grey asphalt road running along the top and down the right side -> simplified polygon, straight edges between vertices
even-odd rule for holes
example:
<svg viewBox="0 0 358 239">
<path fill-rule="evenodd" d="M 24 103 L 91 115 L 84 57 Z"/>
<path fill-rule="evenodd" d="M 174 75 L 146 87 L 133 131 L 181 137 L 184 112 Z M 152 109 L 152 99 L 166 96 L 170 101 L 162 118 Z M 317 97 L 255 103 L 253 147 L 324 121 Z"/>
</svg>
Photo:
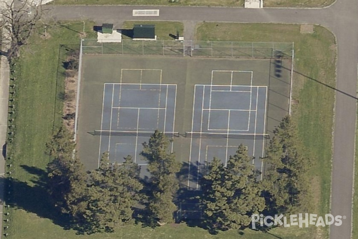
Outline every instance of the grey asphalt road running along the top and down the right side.
<svg viewBox="0 0 358 239">
<path fill-rule="evenodd" d="M 245 23 L 313 23 L 330 29 L 337 38 L 337 98 L 335 105 L 332 214 L 346 216 L 341 226 L 331 226 L 331 239 L 351 238 L 354 138 L 357 102 L 358 4 L 338 0 L 324 9 L 243 9 L 153 6 L 48 6 L 58 20 L 227 21 Z M 133 9 L 160 9 L 159 17 L 133 17 Z M 323 99 L 322 99 L 323 100 Z"/>
</svg>

